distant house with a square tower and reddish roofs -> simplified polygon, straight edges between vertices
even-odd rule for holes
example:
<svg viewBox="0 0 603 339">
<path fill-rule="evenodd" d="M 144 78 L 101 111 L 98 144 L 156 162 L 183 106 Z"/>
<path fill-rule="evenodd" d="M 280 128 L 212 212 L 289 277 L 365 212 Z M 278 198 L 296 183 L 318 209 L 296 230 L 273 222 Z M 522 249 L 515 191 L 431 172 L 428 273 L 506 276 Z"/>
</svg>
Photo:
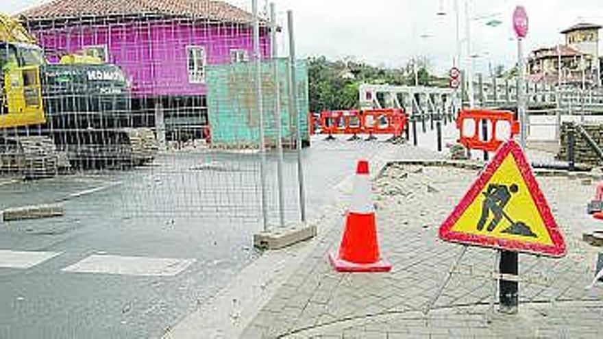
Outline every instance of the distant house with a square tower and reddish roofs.
<svg viewBox="0 0 603 339">
<path fill-rule="evenodd" d="M 535 49 L 528 59 L 528 77 L 547 84 L 596 86 L 601 81 L 599 29 L 602 26 L 578 23 L 561 31 L 565 45 Z M 561 77 L 559 70 L 561 68 Z"/>
</svg>

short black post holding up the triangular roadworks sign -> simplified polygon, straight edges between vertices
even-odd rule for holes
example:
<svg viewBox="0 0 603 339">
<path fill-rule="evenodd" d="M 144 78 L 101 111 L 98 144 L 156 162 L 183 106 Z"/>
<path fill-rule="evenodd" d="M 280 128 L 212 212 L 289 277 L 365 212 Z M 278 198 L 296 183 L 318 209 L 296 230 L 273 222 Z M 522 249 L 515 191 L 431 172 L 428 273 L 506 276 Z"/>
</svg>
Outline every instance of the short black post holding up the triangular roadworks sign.
<svg viewBox="0 0 603 339">
<path fill-rule="evenodd" d="M 499 271 L 501 275 L 515 275 L 519 273 L 519 264 L 517 262 L 517 252 L 513 251 L 500 251 L 500 263 Z M 499 287 L 499 300 L 500 300 L 500 312 L 506 314 L 517 314 L 517 305 L 519 304 L 519 294 L 517 279 L 515 281 L 509 281 L 500 279 Z"/>
</svg>

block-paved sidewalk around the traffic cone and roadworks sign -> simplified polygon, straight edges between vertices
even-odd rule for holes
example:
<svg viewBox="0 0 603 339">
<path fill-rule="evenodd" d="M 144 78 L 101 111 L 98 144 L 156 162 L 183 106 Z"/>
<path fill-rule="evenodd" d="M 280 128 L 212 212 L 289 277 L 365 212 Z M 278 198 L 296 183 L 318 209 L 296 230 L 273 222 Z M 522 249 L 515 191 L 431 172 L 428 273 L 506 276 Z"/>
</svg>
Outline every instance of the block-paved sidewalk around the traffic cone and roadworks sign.
<svg viewBox="0 0 603 339">
<path fill-rule="evenodd" d="M 413 158 L 413 149 L 406 158 Z M 416 149 L 415 149 L 416 150 Z M 310 255 L 275 291 L 242 338 L 602 338 L 603 288 L 585 290 L 595 248 L 582 231 L 598 224 L 585 212 L 593 182 L 537 177 L 568 253 L 563 259 L 519 255 L 517 316 L 491 312 L 495 251 L 438 239 L 443 219 L 477 171 L 393 165 L 373 183 L 382 254 L 391 273 L 336 273 L 343 211 L 311 244 Z M 446 278 L 450 280 L 438 294 Z M 495 306 L 497 307 L 497 306 Z"/>
</svg>

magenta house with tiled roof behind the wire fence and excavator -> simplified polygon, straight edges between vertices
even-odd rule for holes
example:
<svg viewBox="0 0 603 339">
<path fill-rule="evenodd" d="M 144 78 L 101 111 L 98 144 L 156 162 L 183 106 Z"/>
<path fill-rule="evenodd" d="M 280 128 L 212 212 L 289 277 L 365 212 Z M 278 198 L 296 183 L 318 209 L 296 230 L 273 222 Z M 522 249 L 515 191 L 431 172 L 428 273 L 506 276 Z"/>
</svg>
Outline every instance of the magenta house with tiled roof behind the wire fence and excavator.
<svg viewBox="0 0 603 339">
<path fill-rule="evenodd" d="M 208 123 L 206 65 L 253 52 L 251 14 L 223 1 L 55 0 L 19 16 L 51 62 L 84 53 L 120 66 L 134 110 L 164 118 L 171 139 L 199 137 Z M 260 48 L 268 58 L 263 22 Z"/>
</svg>

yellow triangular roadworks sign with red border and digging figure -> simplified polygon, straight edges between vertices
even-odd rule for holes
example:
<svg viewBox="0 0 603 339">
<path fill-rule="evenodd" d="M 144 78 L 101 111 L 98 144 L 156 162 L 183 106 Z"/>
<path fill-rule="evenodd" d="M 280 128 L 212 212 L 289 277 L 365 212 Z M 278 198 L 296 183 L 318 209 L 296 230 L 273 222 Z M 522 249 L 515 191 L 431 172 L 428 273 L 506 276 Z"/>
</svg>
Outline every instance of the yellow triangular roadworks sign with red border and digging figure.
<svg viewBox="0 0 603 339">
<path fill-rule="evenodd" d="M 517 142 L 506 142 L 440 227 L 463 244 L 561 257 L 565 240 Z"/>
</svg>

